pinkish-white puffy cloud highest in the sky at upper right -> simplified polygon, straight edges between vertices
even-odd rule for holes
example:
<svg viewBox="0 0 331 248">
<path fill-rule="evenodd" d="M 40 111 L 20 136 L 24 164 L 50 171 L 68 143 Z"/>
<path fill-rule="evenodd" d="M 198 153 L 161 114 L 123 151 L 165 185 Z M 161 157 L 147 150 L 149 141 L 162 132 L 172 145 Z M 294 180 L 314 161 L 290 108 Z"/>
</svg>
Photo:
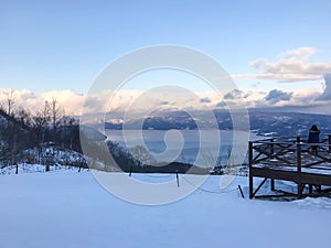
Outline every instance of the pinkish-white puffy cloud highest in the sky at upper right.
<svg viewBox="0 0 331 248">
<path fill-rule="evenodd" d="M 316 54 L 314 47 L 303 46 L 284 53 L 279 60 L 257 58 L 250 66 L 257 74 L 234 75 L 234 78 L 274 79 L 279 82 L 318 80 L 331 72 L 331 64 L 310 62 Z"/>
</svg>

